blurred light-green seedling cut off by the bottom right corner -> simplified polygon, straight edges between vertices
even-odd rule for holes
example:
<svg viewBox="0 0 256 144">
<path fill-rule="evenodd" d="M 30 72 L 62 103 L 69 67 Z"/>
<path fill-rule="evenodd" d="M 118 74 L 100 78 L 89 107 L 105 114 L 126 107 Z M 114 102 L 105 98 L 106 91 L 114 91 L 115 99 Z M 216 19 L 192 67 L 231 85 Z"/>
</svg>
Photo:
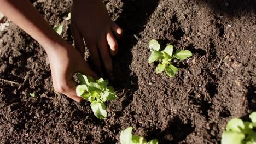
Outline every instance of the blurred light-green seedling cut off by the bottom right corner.
<svg viewBox="0 0 256 144">
<path fill-rule="evenodd" d="M 222 144 L 253 144 L 256 143 L 256 112 L 251 113 L 252 122 L 244 122 L 240 118 L 232 118 L 222 133 Z"/>
</svg>

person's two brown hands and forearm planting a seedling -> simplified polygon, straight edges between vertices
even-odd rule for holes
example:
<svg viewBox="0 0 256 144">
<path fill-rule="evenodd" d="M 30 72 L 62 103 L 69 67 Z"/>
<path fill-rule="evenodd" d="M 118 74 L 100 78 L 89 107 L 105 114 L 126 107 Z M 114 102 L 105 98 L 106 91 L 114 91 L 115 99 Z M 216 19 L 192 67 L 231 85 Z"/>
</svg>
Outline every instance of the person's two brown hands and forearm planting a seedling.
<svg viewBox="0 0 256 144">
<path fill-rule="evenodd" d="M 57 92 L 80 102 L 83 99 L 75 94 L 73 75 L 79 72 L 98 77 L 84 59 L 83 39 L 97 72 L 102 74 L 102 58 L 109 78 L 113 79 L 110 55 L 118 51 L 114 35 L 120 38 L 123 31 L 110 19 L 101 0 L 73 1 L 71 24 L 77 50 L 53 30 L 28 0 L 0 0 L 0 11 L 44 47 Z"/>
</svg>

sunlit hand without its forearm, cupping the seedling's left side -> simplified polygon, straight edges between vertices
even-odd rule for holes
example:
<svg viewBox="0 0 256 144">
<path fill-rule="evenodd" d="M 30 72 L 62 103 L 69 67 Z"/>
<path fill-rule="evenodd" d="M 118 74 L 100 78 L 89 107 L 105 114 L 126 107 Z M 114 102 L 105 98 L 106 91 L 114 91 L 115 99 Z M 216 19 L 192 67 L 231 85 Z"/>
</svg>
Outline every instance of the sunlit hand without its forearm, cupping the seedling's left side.
<svg viewBox="0 0 256 144">
<path fill-rule="evenodd" d="M 90 75 L 97 79 L 97 75 L 90 69 L 80 53 L 65 40 L 56 44 L 47 51 L 53 77 L 53 86 L 57 92 L 67 95 L 69 98 L 80 102 L 83 98 L 78 97 L 75 88 L 77 84 L 73 80 L 75 73 Z"/>
</svg>

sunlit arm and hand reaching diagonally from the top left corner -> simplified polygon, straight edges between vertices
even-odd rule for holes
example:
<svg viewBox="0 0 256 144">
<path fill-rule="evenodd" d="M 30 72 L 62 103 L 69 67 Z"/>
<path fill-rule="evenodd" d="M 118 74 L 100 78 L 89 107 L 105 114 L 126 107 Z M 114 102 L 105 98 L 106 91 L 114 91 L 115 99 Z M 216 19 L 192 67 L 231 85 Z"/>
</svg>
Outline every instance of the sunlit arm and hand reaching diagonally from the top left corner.
<svg viewBox="0 0 256 144">
<path fill-rule="evenodd" d="M 79 72 L 97 78 L 82 55 L 54 31 L 30 1 L 2 0 L 0 11 L 44 47 L 55 90 L 75 101 L 82 101 L 83 98 L 75 94 L 73 75 Z"/>
</svg>

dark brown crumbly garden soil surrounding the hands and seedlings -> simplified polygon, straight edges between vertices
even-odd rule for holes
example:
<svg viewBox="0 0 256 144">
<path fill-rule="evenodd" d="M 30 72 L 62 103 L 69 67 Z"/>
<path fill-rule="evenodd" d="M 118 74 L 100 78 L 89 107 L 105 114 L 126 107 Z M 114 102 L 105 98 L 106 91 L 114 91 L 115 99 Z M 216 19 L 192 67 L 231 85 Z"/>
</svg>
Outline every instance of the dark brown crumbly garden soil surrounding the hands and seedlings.
<svg viewBox="0 0 256 144">
<path fill-rule="evenodd" d="M 89 102 L 55 94 L 47 56 L 31 37 L 10 23 L 0 33 L 1 143 L 118 143 L 120 131 L 159 143 L 219 143 L 232 117 L 256 110 L 254 0 L 104 1 L 124 28 L 114 58 L 118 99 L 107 102 L 108 117 L 97 119 Z M 65 23 L 73 43 L 71 1 L 33 1 L 52 26 Z M 148 64 L 149 40 L 188 49 L 174 78 Z M 23 83 L 24 87 L 2 79 Z M 31 98 L 29 93 L 35 93 Z"/>
</svg>

